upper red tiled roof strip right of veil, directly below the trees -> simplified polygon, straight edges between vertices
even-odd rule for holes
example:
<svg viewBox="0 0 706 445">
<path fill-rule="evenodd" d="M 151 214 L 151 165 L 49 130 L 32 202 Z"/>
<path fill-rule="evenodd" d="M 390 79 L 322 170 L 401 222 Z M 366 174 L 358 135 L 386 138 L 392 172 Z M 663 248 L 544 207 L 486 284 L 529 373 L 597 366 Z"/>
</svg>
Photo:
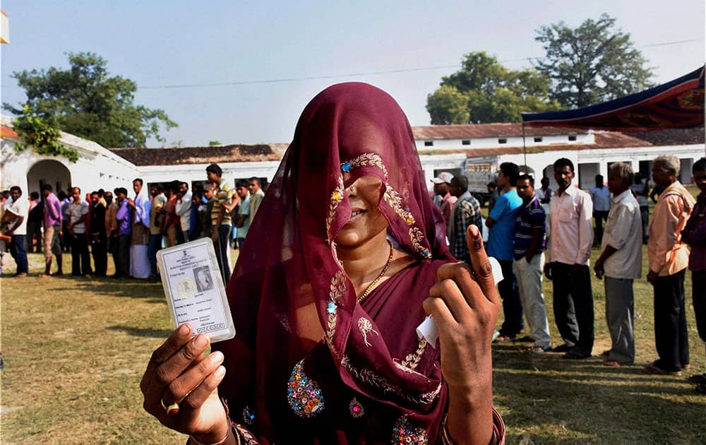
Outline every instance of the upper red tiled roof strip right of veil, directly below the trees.
<svg viewBox="0 0 706 445">
<path fill-rule="evenodd" d="M 467 125 L 427 125 L 413 126 L 414 138 L 421 139 L 471 139 L 522 136 L 522 124 L 467 124 Z M 569 129 L 558 126 L 542 128 L 525 127 L 525 136 L 562 136 L 565 134 L 586 134 L 584 129 Z"/>
</svg>

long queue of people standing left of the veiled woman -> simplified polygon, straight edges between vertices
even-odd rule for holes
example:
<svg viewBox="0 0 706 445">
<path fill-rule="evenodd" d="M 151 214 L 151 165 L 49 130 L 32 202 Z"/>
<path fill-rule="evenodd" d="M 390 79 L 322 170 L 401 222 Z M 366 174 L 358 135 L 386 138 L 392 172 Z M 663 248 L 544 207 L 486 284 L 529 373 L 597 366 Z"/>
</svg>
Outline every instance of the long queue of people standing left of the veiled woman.
<svg viewBox="0 0 706 445">
<path fill-rule="evenodd" d="M 19 186 L 11 187 L 1 206 L 0 233 L 16 261 L 15 277 L 27 276 L 27 252 L 36 249 L 44 252 L 42 278 L 64 274 L 67 251 L 73 276 L 105 277 L 110 255 L 115 268 L 112 278 L 157 278 L 157 251 L 210 237 L 223 281 L 228 283 L 231 248 L 243 244 L 264 193 L 256 177 L 239 180 L 234 189 L 222 178 L 218 165 L 209 165 L 205 173 L 207 185 L 193 192 L 187 182 L 172 181 L 166 187 L 150 185 L 148 194 L 138 178 L 132 191 L 118 187 L 84 194 L 74 186 L 59 196 L 44 184 L 40 201 L 34 192 L 28 199 Z M 41 212 L 38 230 L 37 208 Z"/>
</svg>

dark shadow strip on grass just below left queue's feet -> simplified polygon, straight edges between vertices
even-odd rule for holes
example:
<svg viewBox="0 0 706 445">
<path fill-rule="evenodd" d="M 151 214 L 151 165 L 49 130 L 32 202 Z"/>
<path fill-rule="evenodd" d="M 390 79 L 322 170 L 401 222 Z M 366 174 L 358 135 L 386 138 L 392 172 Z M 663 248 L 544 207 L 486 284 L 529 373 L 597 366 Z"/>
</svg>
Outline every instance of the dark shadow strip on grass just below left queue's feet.
<svg viewBox="0 0 706 445">
<path fill-rule="evenodd" d="M 61 275 L 56 278 L 57 283 L 71 285 L 71 287 L 55 287 L 55 290 L 93 292 L 96 295 L 110 297 L 128 297 L 147 299 L 148 303 L 166 303 L 162 283 L 148 280 L 133 280 L 131 278 L 116 280 L 114 278 L 74 277 Z"/>
</svg>

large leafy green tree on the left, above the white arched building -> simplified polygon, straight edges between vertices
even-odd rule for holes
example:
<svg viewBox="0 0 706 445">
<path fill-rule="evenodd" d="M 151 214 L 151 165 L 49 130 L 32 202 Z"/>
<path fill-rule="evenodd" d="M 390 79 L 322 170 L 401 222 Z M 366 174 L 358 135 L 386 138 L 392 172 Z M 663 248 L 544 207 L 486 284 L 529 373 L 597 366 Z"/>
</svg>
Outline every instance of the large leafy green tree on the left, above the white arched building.
<svg viewBox="0 0 706 445">
<path fill-rule="evenodd" d="M 70 53 L 68 61 L 71 66 L 66 70 L 13 73 L 27 101 L 19 108 L 3 106 L 18 116 L 29 107 L 47 123 L 104 147 L 144 147 L 150 137 L 164 141 L 162 126 L 165 130 L 177 126 L 162 109 L 135 105 L 136 83 L 109 76 L 107 62 L 97 54 Z"/>
</svg>

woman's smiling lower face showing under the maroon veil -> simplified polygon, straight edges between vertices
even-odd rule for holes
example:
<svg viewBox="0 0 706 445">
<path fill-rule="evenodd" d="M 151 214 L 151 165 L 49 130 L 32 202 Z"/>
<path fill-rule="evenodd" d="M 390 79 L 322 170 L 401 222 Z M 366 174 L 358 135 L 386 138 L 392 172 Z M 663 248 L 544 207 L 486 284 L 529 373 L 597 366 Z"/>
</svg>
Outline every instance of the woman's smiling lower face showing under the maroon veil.
<svg viewBox="0 0 706 445">
<path fill-rule="evenodd" d="M 336 235 L 339 246 L 357 247 L 387 229 L 388 220 L 378 206 L 382 186 L 373 176 L 359 177 L 348 186 L 351 219 Z"/>
</svg>

